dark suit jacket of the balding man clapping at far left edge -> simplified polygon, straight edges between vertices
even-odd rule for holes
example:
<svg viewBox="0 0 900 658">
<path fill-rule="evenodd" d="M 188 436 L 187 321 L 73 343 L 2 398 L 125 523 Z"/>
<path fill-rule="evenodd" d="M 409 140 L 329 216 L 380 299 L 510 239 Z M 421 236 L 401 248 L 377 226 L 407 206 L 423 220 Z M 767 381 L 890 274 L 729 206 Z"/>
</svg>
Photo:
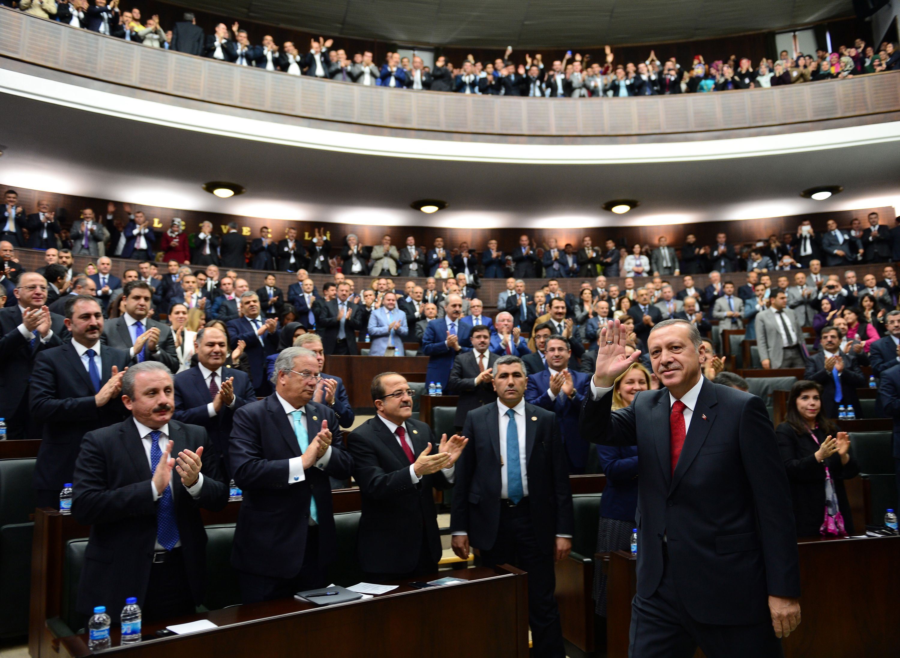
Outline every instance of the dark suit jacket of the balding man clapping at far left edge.
<svg viewBox="0 0 900 658">
<path fill-rule="evenodd" d="M 58 347 L 70 336 L 62 316 L 52 316 L 50 330 L 53 335 L 47 342 L 35 343 L 31 350 L 31 341 L 26 340 L 19 331 L 22 324 L 22 311 L 19 305 L 0 308 L 0 414 L 9 422 L 17 416 L 17 412 L 27 413 L 28 378 L 35 359 L 44 351 Z"/>
</svg>

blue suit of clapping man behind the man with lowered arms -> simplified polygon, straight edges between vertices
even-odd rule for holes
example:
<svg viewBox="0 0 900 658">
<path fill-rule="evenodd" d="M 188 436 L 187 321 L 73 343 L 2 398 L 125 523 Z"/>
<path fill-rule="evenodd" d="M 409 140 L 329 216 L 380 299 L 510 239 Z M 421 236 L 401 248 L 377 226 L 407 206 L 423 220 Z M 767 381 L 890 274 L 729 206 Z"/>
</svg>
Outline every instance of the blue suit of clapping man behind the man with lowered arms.
<svg viewBox="0 0 900 658">
<path fill-rule="evenodd" d="M 578 419 L 584 398 L 590 396 L 591 376 L 577 370 L 570 371 L 572 372 L 572 383 L 575 385 L 575 395 L 571 399 L 563 391 L 560 391 L 553 400 L 547 395 L 547 389 L 550 387 L 549 369 L 528 375 L 525 399 L 532 405 L 556 414 L 563 436 L 563 446 L 569 457 L 570 472 L 584 473 L 584 467 L 588 464 L 590 442 L 581 438 Z"/>
</svg>

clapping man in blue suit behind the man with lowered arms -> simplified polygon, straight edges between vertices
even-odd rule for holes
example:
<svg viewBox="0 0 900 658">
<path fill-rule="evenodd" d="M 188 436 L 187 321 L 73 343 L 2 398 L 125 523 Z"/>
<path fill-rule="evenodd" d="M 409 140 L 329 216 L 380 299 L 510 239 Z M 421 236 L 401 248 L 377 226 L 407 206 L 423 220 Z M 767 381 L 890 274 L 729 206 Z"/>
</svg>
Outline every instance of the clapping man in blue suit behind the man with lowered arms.
<svg viewBox="0 0 900 658">
<path fill-rule="evenodd" d="M 569 341 L 559 334 L 547 339 L 547 369 L 528 375 L 525 400 L 556 414 L 563 445 L 569 458 L 569 473 L 582 474 L 588 465 L 590 441 L 581 438 L 578 419 L 584 398 L 590 396 L 590 375 L 569 369 Z"/>
</svg>

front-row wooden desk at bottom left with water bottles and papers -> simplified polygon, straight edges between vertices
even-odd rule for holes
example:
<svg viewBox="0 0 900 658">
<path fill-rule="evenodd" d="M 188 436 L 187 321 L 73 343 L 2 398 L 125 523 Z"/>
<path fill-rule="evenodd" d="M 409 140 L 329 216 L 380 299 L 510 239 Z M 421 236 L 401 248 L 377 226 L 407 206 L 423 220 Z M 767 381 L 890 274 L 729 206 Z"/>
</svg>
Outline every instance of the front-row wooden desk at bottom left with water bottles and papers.
<svg viewBox="0 0 900 658">
<path fill-rule="evenodd" d="M 367 658 L 527 658 L 527 574 L 503 565 L 454 572 L 469 582 L 415 590 L 398 582 L 394 591 L 369 600 L 318 607 L 286 599 L 212 610 L 191 617 L 147 624 L 145 637 L 166 626 L 209 619 L 218 628 L 185 636 L 147 639 L 106 654 L 157 658 L 254 655 L 334 655 Z M 434 578 L 441 574 L 434 574 Z M 431 576 L 423 580 L 433 580 Z M 455 611 L 455 612 L 452 612 Z M 436 623 L 445 619 L 445 623 Z M 116 614 L 113 613 L 113 617 Z M 446 622 L 456 617 L 459 623 Z M 86 636 L 58 640 L 61 658 L 94 655 Z"/>
</svg>

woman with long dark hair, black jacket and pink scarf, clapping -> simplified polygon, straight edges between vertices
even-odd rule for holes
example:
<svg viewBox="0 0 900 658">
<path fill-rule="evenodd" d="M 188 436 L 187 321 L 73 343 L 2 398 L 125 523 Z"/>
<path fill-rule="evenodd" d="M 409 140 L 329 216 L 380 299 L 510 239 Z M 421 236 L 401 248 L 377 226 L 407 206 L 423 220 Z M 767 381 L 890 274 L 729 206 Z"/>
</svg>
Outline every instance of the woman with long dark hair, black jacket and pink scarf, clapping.
<svg viewBox="0 0 900 658">
<path fill-rule="evenodd" d="M 797 537 L 853 535 L 844 480 L 860 474 L 850 437 L 822 411 L 822 387 L 801 380 L 791 387 L 788 414 L 775 430 L 791 487 Z"/>
</svg>

